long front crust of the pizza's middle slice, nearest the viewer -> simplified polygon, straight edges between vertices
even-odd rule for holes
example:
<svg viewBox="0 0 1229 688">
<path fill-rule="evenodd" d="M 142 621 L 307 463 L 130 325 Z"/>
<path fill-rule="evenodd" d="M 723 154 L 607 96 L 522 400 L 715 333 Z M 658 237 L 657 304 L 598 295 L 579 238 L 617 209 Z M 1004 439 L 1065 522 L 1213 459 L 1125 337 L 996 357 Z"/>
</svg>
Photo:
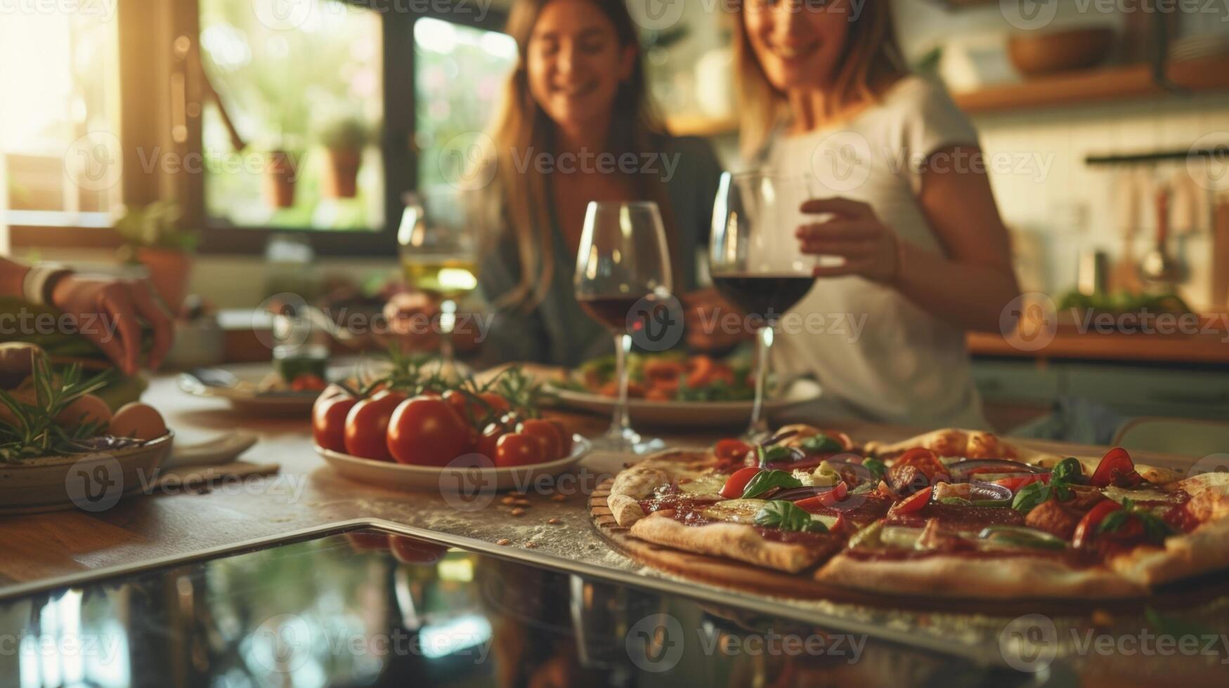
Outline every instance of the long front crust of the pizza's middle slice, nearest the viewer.
<svg viewBox="0 0 1229 688">
<path fill-rule="evenodd" d="M 846 587 L 938 597 L 1113 598 L 1147 592 L 1144 586 L 1109 569 L 1074 569 L 1041 557 L 972 559 L 935 554 L 921 559 L 865 561 L 838 554 L 821 566 L 815 577 Z"/>
</svg>

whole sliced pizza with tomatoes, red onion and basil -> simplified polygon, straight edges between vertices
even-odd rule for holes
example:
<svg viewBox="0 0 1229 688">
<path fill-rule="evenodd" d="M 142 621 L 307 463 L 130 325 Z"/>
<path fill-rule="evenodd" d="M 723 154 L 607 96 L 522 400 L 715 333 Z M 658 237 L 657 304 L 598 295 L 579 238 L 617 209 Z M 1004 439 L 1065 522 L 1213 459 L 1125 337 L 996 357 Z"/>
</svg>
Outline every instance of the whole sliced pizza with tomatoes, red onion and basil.
<svg viewBox="0 0 1229 688">
<path fill-rule="evenodd" d="M 656 545 L 890 595 L 1139 597 L 1229 568 L 1229 474 L 970 431 L 859 446 L 794 425 L 666 451 L 619 472 L 607 506 Z"/>
</svg>

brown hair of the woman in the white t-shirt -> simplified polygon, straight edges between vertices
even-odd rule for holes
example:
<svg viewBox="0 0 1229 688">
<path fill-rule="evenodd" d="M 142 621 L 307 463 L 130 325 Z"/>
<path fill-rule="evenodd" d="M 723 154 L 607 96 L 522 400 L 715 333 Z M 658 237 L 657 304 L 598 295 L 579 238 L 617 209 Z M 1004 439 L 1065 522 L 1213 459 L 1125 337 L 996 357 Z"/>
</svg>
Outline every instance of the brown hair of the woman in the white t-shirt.
<svg viewBox="0 0 1229 688">
<path fill-rule="evenodd" d="M 734 15 L 735 84 L 739 93 L 739 146 L 751 160 L 768 143 L 774 127 L 789 115 L 785 93 L 777 90 L 756 58 L 744 23 L 748 0 L 728 0 Z M 790 1 L 790 0 L 785 0 Z M 801 0 L 809 4 L 807 0 Z M 848 2 L 848 0 L 847 0 Z M 822 11 L 822 10 L 821 10 Z M 837 61 L 832 98 L 825 100 L 826 114 L 858 101 L 878 101 L 885 84 L 908 72 L 896 43 L 892 10 L 887 0 L 866 0 L 857 20 L 849 20 L 844 53 Z"/>
</svg>

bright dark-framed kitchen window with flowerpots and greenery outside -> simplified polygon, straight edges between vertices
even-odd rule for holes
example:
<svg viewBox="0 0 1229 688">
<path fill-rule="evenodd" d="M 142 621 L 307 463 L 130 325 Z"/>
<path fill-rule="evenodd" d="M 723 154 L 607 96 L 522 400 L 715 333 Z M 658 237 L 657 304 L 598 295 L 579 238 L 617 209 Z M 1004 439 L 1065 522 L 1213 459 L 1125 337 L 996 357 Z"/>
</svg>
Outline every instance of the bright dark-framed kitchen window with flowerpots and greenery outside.
<svg viewBox="0 0 1229 688">
<path fill-rule="evenodd" d="M 116 246 L 108 227 L 123 204 L 175 199 L 187 227 L 200 230 L 202 252 L 259 253 L 270 232 L 293 231 L 321 254 L 391 256 L 403 192 L 445 178 L 442 146 L 485 130 L 516 59 L 495 11 L 431 16 L 375 0 L 114 7 L 93 23 L 48 15 L 73 50 L 26 50 L 70 55 L 27 70 L 58 70 L 37 88 L 33 76 L 0 70 L 5 92 L 41 98 L 0 103 L 6 123 L 17 113 L 26 129 L 43 129 L 23 149 L 2 141 L 17 248 Z M 33 38 L 5 39 L 22 33 L 7 20 L 0 31 L 6 64 L 20 63 Z M 159 50 L 171 59 L 151 59 Z M 108 118 L 118 112 L 123 119 Z M 86 138 L 79 155 L 63 155 L 100 130 L 109 147 Z M 122 165 L 102 192 L 68 184 L 66 173 L 53 183 L 53 166 L 112 149 Z M 42 214 L 26 213 L 34 209 Z"/>
</svg>

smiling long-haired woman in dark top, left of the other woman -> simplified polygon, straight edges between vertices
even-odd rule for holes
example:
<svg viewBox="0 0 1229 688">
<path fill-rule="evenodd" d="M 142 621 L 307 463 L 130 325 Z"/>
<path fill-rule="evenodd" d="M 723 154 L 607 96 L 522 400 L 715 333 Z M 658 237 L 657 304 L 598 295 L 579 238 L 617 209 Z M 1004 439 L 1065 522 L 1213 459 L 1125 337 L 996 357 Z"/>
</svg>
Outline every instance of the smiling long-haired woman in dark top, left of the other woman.
<svg viewBox="0 0 1229 688">
<path fill-rule="evenodd" d="M 499 308 L 481 356 L 574 366 L 611 348 L 573 295 L 589 201 L 655 200 L 682 294 L 721 170 L 703 140 L 665 133 L 623 0 L 516 0 L 508 29 L 519 59 L 482 192 L 484 224 L 500 231 L 478 276 Z"/>
</svg>

